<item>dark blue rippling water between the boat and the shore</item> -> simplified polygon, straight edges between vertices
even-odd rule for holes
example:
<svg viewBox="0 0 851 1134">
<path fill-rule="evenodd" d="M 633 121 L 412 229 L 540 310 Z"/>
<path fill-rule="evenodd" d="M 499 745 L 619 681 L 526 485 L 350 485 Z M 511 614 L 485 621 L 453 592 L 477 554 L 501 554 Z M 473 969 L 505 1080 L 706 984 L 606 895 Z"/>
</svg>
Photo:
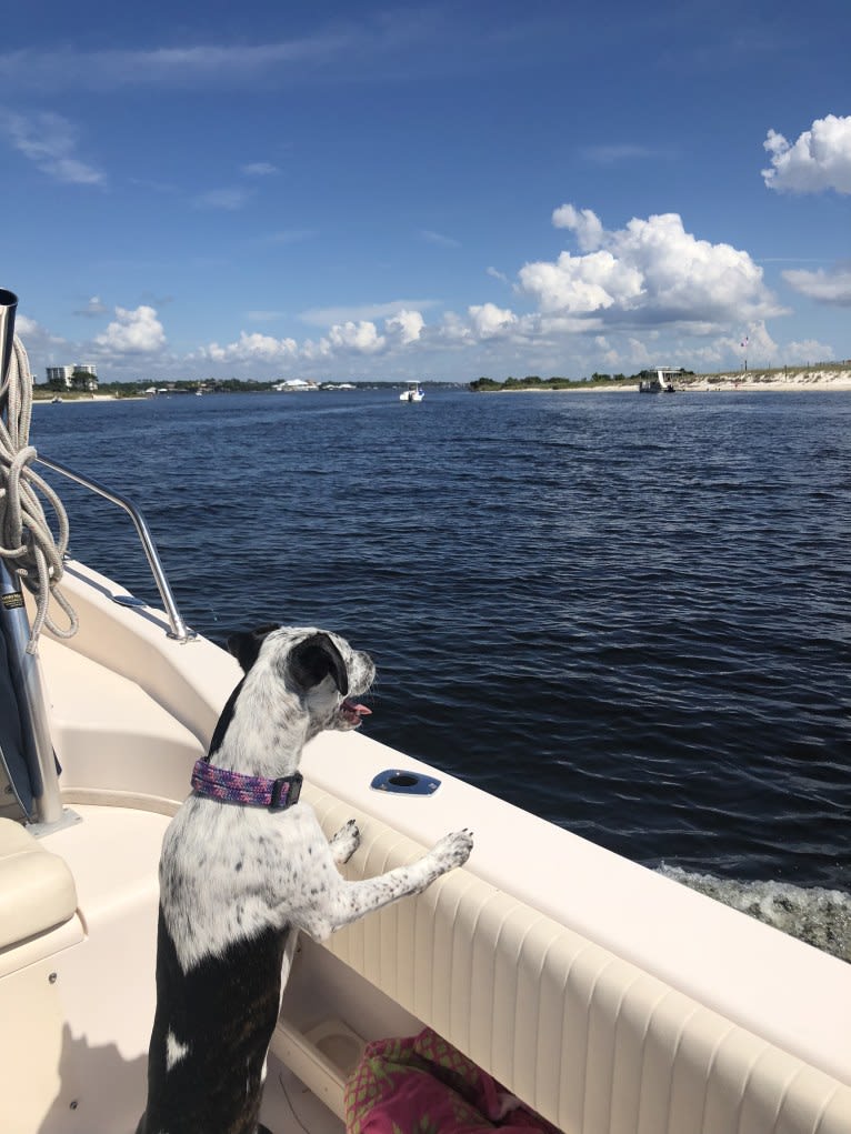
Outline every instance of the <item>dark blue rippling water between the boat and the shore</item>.
<svg viewBox="0 0 851 1134">
<path fill-rule="evenodd" d="M 851 959 L 851 395 L 175 396 L 31 441 L 142 507 L 199 632 L 338 631 L 370 735 Z"/>
</svg>

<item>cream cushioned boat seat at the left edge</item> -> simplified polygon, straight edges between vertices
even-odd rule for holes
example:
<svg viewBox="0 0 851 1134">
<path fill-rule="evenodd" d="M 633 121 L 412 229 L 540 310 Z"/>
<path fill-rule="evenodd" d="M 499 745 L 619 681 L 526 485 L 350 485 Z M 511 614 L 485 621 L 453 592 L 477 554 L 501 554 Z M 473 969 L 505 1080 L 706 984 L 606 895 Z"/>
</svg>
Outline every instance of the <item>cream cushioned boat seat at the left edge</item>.
<svg viewBox="0 0 851 1134">
<path fill-rule="evenodd" d="M 77 890 L 67 863 L 30 831 L 0 819 L 0 949 L 69 921 Z"/>
</svg>

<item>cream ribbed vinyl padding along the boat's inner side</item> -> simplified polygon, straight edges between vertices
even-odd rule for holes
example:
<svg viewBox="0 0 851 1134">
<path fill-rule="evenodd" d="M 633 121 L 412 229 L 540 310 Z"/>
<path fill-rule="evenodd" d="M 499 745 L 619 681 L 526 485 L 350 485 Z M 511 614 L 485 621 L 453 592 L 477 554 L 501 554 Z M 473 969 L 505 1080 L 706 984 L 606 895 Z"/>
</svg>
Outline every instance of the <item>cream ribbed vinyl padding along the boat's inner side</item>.
<svg viewBox="0 0 851 1134">
<path fill-rule="evenodd" d="M 329 836 L 352 815 L 305 796 Z M 362 830 L 349 877 L 422 854 Z M 851 1131 L 851 1088 L 467 871 L 327 947 L 566 1134 Z"/>
</svg>

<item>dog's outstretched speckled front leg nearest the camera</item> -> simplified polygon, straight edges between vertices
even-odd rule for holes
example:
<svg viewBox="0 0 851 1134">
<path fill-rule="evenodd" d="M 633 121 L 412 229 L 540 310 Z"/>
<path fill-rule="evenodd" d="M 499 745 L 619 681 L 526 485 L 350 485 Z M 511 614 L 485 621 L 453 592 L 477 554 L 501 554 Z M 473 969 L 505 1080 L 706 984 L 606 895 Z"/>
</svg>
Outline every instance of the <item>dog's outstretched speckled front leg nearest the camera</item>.
<svg viewBox="0 0 851 1134">
<path fill-rule="evenodd" d="M 422 892 L 441 874 L 462 866 L 472 849 L 472 832 L 455 831 L 440 839 L 428 854 L 410 866 L 397 866 L 378 878 L 359 882 L 347 882 L 338 877 L 335 885 L 325 890 L 321 905 L 300 911 L 298 924 L 314 940 L 322 941 L 335 930 L 357 921 L 373 909 L 381 909 L 397 898 Z"/>
</svg>

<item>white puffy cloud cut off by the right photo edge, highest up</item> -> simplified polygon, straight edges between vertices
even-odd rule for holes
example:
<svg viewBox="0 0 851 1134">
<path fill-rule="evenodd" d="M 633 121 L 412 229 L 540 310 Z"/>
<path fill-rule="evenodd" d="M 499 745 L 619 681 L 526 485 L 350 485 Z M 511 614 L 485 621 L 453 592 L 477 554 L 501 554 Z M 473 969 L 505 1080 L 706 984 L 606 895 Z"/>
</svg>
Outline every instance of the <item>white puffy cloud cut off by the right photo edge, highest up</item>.
<svg viewBox="0 0 851 1134">
<path fill-rule="evenodd" d="M 768 130 L 762 143 L 772 168 L 762 170 L 769 189 L 787 193 L 851 193 L 851 116 L 817 118 L 797 142 Z"/>
</svg>

